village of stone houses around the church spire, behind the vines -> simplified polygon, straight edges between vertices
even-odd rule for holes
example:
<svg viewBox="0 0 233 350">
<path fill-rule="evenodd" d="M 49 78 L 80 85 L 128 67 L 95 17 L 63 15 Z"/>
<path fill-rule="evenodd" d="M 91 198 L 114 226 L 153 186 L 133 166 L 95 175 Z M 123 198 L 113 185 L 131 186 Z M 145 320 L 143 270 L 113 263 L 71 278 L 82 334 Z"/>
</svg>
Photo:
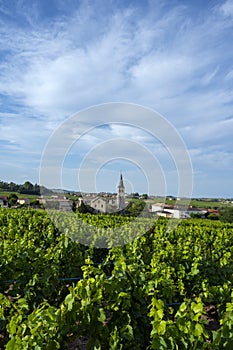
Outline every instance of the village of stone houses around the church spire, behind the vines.
<svg viewBox="0 0 233 350">
<path fill-rule="evenodd" d="M 158 201 L 161 199 L 161 201 Z M 180 198 L 136 194 L 126 194 L 123 176 L 120 174 L 116 193 L 53 193 L 50 195 L 40 195 L 37 197 L 25 196 L 18 198 L 15 194 L 0 196 L 0 207 L 3 208 L 35 208 L 35 209 L 55 209 L 59 211 L 76 211 L 86 206 L 92 209 L 92 213 L 122 213 L 131 201 L 141 201 L 145 203 L 145 210 L 150 215 L 166 218 L 188 219 L 188 218 L 213 218 L 218 219 L 219 210 L 217 207 L 202 207 L 190 205 L 190 201 Z M 173 202 L 172 204 L 169 204 Z M 175 201 L 175 202 L 174 202 Z M 202 202 L 200 202 L 203 204 Z"/>
</svg>

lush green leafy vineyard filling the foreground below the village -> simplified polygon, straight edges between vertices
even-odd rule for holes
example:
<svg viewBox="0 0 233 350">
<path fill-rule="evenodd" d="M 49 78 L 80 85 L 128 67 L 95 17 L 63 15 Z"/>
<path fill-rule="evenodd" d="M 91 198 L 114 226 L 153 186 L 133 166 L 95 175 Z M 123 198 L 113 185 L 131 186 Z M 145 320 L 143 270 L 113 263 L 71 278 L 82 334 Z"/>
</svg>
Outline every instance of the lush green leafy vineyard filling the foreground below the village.
<svg viewBox="0 0 233 350">
<path fill-rule="evenodd" d="M 233 224 L 76 216 L 64 234 L 45 211 L 0 210 L 0 349 L 233 349 Z M 81 244 L 80 220 L 95 243 L 115 227 L 129 242 Z"/>
</svg>

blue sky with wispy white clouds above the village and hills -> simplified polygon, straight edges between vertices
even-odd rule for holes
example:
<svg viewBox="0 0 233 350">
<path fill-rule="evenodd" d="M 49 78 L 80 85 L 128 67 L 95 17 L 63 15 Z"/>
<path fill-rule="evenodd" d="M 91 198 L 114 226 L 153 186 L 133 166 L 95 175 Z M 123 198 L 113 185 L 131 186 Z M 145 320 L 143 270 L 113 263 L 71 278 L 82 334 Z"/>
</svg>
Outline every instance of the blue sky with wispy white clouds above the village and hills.
<svg viewBox="0 0 233 350">
<path fill-rule="evenodd" d="M 179 194 L 182 170 L 153 121 L 144 130 L 143 115 L 98 119 L 93 107 L 121 103 L 182 138 L 192 197 L 232 198 L 232 42 L 233 0 L 0 0 L 0 180 L 115 192 L 122 172 L 129 193 Z M 68 120 L 62 169 L 41 183 Z"/>
</svg>

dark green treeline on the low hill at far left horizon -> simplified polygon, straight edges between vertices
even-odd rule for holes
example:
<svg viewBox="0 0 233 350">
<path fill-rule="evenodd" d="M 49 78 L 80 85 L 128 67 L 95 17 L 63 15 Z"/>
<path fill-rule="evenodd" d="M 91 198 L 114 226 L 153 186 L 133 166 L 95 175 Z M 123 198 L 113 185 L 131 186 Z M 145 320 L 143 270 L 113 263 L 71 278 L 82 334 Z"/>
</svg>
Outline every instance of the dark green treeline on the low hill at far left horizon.
<svg viewBox="0 0 233 350">
<path fill-rule="evenodd" d="M 53 191 L 41 187 L 37 184 L 33 185 L 30 181 L 26 181 L 24 184 L 19 185 L 14 182 L 0 181 L 0 190 L 5 192 L 18 192 L 21 194 L 34 194 L 40 195 L 41 191 L 43 194 L 52 194 Z"/>
</svg>

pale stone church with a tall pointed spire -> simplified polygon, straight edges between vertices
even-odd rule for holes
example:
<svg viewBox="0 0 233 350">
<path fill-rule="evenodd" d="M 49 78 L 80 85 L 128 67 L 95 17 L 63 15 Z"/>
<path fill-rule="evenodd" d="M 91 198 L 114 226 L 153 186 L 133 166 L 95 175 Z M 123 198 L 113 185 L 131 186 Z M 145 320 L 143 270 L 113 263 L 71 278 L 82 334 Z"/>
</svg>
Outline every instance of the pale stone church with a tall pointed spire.
<svg viewBox="0 0 233 350">
<path fill-rule="evenodd" d="M 85 200 L 85 203 L 86 200 Z M 96 212 L 100 213 L 114 213 L 125 208 L 125 186 L 123 176 L 120 174 L 120 181 L 117 186 L 117 195 L 97 195 L 89 204 Z"/>
</svg>

